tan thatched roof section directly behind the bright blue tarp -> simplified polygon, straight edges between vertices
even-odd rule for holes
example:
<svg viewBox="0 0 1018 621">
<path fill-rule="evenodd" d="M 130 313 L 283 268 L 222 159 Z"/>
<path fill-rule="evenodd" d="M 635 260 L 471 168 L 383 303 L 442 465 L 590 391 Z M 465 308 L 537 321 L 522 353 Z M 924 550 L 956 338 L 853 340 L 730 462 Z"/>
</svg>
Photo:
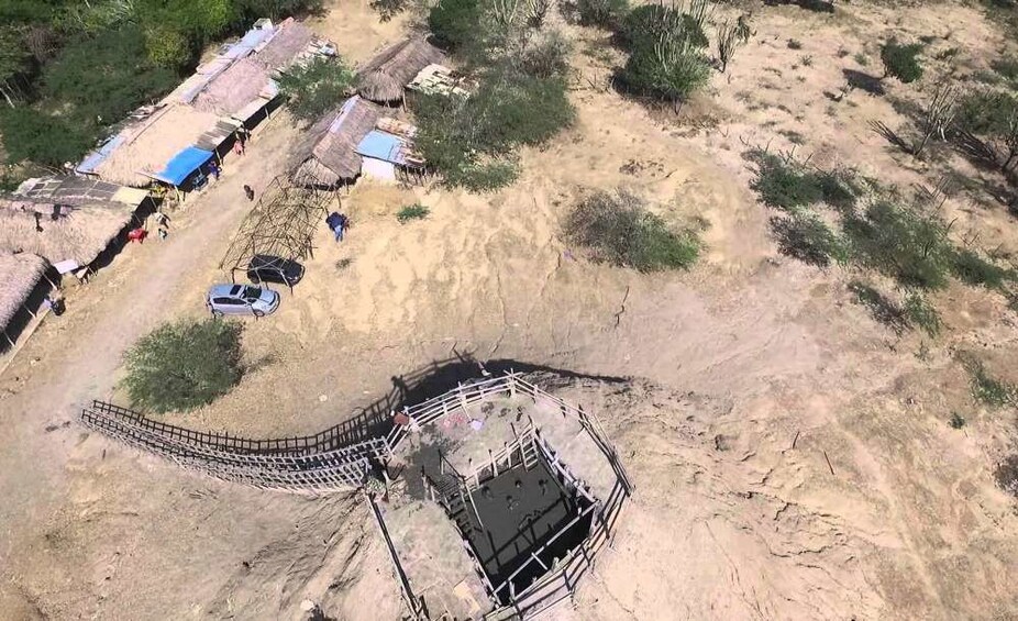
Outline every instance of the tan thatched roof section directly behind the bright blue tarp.
<svg viewBox="0 0 1018 621">
<path fill-rule="evenodd" d="M 95 173 L 106 181 L 146 186 L 152 181 L 147 175 L 162 170 L 177 153 L 197 144 L 220 122 L 212 112 L 202 112 L 190 106 L 166 106 L 125 129 L 120 134 L 123 142 L 96 166 Z"/>
</svg>

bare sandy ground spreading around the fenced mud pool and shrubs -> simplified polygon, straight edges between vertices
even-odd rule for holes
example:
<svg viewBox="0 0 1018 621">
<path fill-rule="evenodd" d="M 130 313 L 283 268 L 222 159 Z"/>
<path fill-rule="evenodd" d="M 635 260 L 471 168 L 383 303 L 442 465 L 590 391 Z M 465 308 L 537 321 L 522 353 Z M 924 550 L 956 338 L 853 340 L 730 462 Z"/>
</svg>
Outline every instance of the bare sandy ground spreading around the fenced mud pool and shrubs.
<svg viewBox="0 0 1018 621">
<path fill-rule="evenodd" d="M 936 298 L 945 334 L 917 355 L 919 335 L 898 337 L 850 301 L 853 274 L 776 256 L 741 157 L 746 145 L 792 148 L 795 131 L 814 162 L 903 188 L 965 170 L 889 149 L 866 125 L 906 125 L 887 97 L 854 90 L 834 103 L 823 92 L 844 84 L 844 68 L 876 75 L 876 44 L 893 31 L 943 36 L 949 22 L 951 43 L 937 45 L 961 47 L 974 66 L 1003 40 L 971 9 L 843 9 L 760 8 L 753 42 L 697 104 L 710 122 L 649 113 L 602 88 L 607 35 L 575 31 L 577 126 L 524 153 L 517 185 L 491 196 L 358 186 L 343 198 L 347 241 L 319 231 L 306 282 L 272 320 L 248 324 L 257 368 L 214 406 L 168 420 L 313 432 L 455 352 L 563 369 L 546 388 L 599 413 L 638 491 L 615 550 L 575 609 L 555 616 L 1018 617 L 1018 519 L 992 478 L 1013 451 L 1015 412 L 975 404 L 953 357 L 976 351 L 1018 380 L 1014 313 L 953 286 Z M 317 27 L 355 60 L 401 27 L 377 24 L 366 2 L 330 11 Z M 338 619 L 402 613 L 356 498 L 206 480 L 74 423 L 80 403 L 114 395 L 137 336 L 201 312 L 247 209 L 240 187 L 281 171 L 295 135 L 285 115 L 259 131 L 167 242 L 131 246 L 73 291 L 67 314 L 47 319 L 0 376 L 0 617 L 298 619 L 306 597 Z M 708 221 L 706 260 L 650 276 L 583 260 L 560 219 L 578 195 L 619 185 L 672 222 Z M 398 224 L 395 212 L 416 201 L 430 217 Z M 961 195 L 945 209 L 959 234 L 1015 248 L 1003 208 Z M 948 426 L 954 411 L 964 430 Z"/>
</svg>

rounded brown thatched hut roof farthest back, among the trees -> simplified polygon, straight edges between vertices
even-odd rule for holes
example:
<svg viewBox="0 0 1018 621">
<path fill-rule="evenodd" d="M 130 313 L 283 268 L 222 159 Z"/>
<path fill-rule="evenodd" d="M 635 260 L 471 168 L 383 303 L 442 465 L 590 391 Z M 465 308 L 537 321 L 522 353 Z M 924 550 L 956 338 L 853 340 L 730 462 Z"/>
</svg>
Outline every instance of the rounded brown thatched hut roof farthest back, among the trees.
<svg viewBox="0 0 1018 621">
<path fill-rule="evenodd" d="M 411 37 L 383 49 L 357 70 L 357 92 L 378 103 L 403 98 L 403 89 L 428 65 L 445 58 L 441 49 L 421 37 Z"/>
</svg>

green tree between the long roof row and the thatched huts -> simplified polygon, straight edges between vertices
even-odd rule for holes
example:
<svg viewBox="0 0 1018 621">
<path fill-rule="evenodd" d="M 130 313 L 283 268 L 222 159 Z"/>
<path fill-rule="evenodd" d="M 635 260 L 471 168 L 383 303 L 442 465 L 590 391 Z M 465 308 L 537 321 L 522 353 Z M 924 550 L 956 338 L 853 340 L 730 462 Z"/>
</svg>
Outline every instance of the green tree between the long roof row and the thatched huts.
<svg viewBox="0 0 1018 621">
<path fill-rule="evenodd" d="M 297 119 L 314 122 L 334 109 L 354 84 L 354 73 L 342 59 L 316 57 L 277 80 L 287 108 Z"/>
</svg>

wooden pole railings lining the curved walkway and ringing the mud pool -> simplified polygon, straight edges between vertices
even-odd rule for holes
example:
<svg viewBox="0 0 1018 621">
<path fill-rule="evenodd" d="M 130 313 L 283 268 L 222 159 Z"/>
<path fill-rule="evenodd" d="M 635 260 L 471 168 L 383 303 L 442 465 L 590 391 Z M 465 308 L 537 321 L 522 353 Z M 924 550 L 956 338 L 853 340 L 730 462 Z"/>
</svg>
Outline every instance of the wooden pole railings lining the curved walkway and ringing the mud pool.
<svg viewBox="0 0 1018 621">
<path fill-rule="evenodd" d="M 454 476 L 461 490 L 466 490 L 467 498 L 460 500 L 464 509 L 468 510 L 467 502 L 473 504 L 469 494 L 484 480 L 498 476 L 513 465 L 513 455 L 524 465 L 535 459 L 538 452 L 553 464 L 555 473 L 572 488 L 587 498 L 591 504 L 584 510 L 578 521 L 590 515 L 591 530 L 587 539 L 574 548 L 565 558 L 549 567 L 536 555 L 531 561 L 540 562 L 546 573 L 521 592 L 514 592 L 514 585 L 510 576 L 501 585 L 491 585 L 480 565 L 480 561 L 467 553 L 477 569 L 486 590 L 496 606 L 499 606 L 499 594 L 502 589 L 510 590 L 509 606 L 497 608 L 485 616 L 486 621 L 508 621 L 510 619 L 530 619 L 557 602 L 575 594 L 576 581 L 586 572 L 594 567 L 594 556 L 610 541 L 612 529 L 618 520 L 624 500 L 632 495 L 633 486 L 626 473 L 615 447 L 600 421 L 593 413 L 585 412 L 545 392 L 536 386 L 525 381 L 516 373 L 508 373 L 500 377 L 489 377 L 469 384 L 460 384 L 455 389 L 428 399 L 413 407 L 403 408 L 400 413 L 405 415 L 406 424 L 394 424 L 396 412 L 389 412 L 388 421 L 380 421 L 378 412 L 365 412 L 373 426 L 369 429 L 388 430 L 381 435 L 366 435 L 363 430 L 359 434 L 351 434 L 336 425 L 325 432 L 291 439 L 279 440 L 250 440 L 235 437 L 229 434 L 198 432 L 156 421 L 145 415 L 120 408 L 102 401 L 93 401 L 90 407 L 81 411 L 81 422 L 89 429 L 102 432 L 131 446 L 148 451 L 169 458 L 182 467 L 203 473 L 206 475 L 242 483 L 262 489 L 274 489 L 298 492 L 324 492 L 357 488 L 364 485 L 377 464 L 394 456 L 400 443 L 423 425 L 433 424 L 455 411 L 466 411 L 472 406 L 491 398 L 513 399 L 527 396 L 534 402 L 544 401 L 560 408 L 563 415 L 572 415 L 579 421 L 583 429 L 590 435 L 598 450 L 611 465 L 617 483 L 610 497 L 601 502 L 594 498 L 589 490 L 562 464 L 551 446 L 540 437 L 540 433 L 530 422 L 530 426 L 517 433 L 511 443 L 504 448 L 489 454 L 489 458 L 479 466 L 472 467 L 467 475 L 455 473 Z M 384 424 L 379 424 L 384 423 Z M 513 429 L 516 433 L 516 430 Z M 345 442 L 357 437 L 356 442 Z M 458 487 L 458 486 L 457 486 Z M 425 477 L 425 491 L 435 497 L 435 484 Z M 443 489 L 443 491 L 445 491 Z M 457 491 L 462 494 L 462 491 Z M 442 503 L 450 509 L 450 498 L 442 495 Z M 422 602 L 413 596 L 409 580 L 399 563 L 399 557 L 391 540 L 385 530 L 385 523 L 378 507 L 372 501 L 376 520 L 381 528 L 383 536 L 389 550 L 391 561 L 400 580 L 400 589 L 413 619 L 427 619 L 427 610 Z M 573 525 L 569 524 L 569 526 Z M 567 526 L 568 528 L 568 526 Z M 561 536 L 565 529 L 555 537 Z M 466 537 L 461 532 L 461 536 Z M 554 541 L 554 540 L 553 540 Z M 549 544 L 552 543 L 551 541 Z M 519 570 L 522 570 L 520 568 Z M 518 570 L 518 572 L 519 572 Z"/>
</svg>

